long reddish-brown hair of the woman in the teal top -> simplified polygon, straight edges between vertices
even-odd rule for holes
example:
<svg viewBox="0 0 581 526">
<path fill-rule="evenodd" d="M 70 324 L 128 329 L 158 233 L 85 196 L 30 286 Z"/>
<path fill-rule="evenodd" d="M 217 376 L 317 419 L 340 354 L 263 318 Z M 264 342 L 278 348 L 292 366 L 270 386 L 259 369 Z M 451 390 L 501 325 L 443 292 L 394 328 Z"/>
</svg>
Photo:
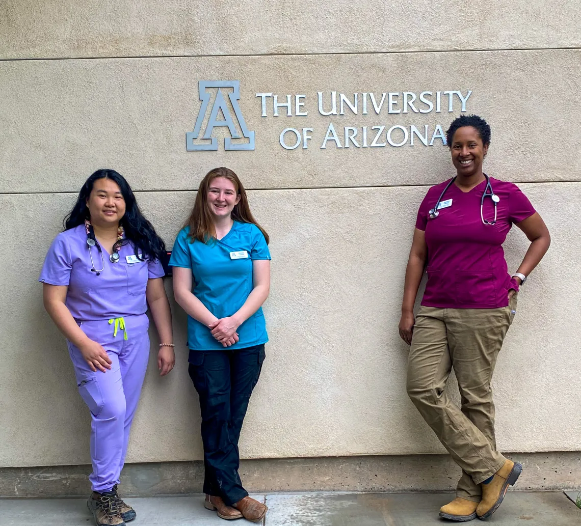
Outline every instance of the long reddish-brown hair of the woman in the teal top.
<svg viewBox="0 0 581 526">
<path fill-rule="evenodd" d="M 216 238 L 216 228 L 214 228 L 214 219 L 210 212 L 210 208 L 207 203 L 208 190 L 210 189 L 210 183 L 217 177 L 224 177 L 231 181 L 236 190 L 236 194 L 240 196 L 240 200 L 234 206 L 232 210 L 231 217 L 234 221 L 239 221 L 241 223 L 252 223 L 256 225 L 264 235 L 264 239 L 268 244 L 269 238 L 266 230 L 264 230 L 254 219 L 252 212 L 250 212 L 250 207 L 248 206 L 248 197 L 246 197 L 246 190 L 238 175 L 236 175 L 232 170 L 225 167 L 214 168 L 210 170 L 206 176 L 200 182 L 198 188 L 198 194 L 196 195 L 196 200 L 193 204 L 192 213 L 189 215 L 188 221 L 185 222 L 184 226 L 189 226 L 189 236 L 192 242 L 197 239 L 202 243 L 206 243 L 212 237 Z"/>
</svg>

